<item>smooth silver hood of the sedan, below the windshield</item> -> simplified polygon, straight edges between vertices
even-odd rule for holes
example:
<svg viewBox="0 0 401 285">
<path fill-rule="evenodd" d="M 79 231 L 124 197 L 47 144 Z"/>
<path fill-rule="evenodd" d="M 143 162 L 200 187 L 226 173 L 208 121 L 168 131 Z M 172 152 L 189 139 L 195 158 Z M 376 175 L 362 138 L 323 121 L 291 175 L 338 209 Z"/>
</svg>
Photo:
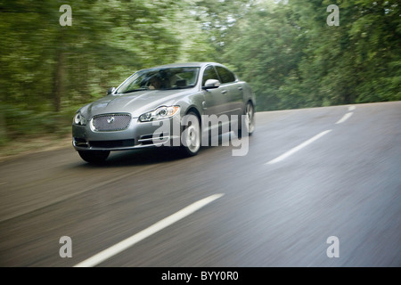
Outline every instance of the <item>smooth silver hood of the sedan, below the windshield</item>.
<svg viewBox="0 0 401 285">
<path fill-rule="evenodd" d="M 129 94 L 108 95 L 92 102 L 80 111 L 86 118 L 106 113 L 131 113 L 133 118 L 154 110 L 159 106 L 176 104 L 178 98 L 192 94 L 192 89 L 186 90 L 145 90 Z"/>
</svg>

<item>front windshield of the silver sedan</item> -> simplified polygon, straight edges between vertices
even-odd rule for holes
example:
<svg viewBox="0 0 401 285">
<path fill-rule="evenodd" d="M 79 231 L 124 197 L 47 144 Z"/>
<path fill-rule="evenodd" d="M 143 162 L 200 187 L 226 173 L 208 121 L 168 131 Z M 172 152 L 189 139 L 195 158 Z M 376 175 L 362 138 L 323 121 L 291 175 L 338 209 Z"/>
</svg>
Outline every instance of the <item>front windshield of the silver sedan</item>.
<svg viewBox="0 0 401 285">
<path fill-rule="evenodd" d="M 146 69 L 136 72 L 124 82 L 117 92 L 127 94 L 141 90 L 171 90 L 196 85 L 199 69 L 196 67 Z"/>
</svg>

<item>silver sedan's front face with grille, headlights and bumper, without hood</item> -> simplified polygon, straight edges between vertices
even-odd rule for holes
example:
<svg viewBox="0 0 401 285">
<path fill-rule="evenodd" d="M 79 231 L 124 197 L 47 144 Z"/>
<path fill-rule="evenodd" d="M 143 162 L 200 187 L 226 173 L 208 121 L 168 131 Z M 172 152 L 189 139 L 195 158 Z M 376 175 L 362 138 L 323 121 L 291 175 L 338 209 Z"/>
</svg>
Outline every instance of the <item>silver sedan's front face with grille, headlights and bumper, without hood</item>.
<svg viewBox="0 0 401 285">
<path fill-rule="evenodd" d="M 172 128 L 179 117 L 179 106 L 160 106 L 139 117 L 112 112 L 86 118 L 78 111 L 72 126 L 73 146 L 77 151 L 121 151 L 168 144 L 179 139 Z"/>
</svg>

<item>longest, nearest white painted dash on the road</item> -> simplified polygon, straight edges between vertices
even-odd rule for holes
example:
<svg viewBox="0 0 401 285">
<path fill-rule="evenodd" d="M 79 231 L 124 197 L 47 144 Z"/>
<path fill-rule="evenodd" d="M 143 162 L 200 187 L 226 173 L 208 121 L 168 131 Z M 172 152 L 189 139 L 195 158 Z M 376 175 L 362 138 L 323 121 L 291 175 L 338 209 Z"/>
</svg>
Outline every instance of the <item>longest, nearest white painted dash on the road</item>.
<svg viewBox="0 0 401 285">
<path fill-rule="evenodd" d="M 100 253 L 89 257 L 88 259 L 84 260 L 83 262 L 78 263 L 78 265 L 74 265 L 74 267 L 93 267 L 95 265 L 99 265 L 106 259 L 110 258 L 111 256 L 115 256 L 119 254 L 121 251 L 126 250 L 127 248 L 132 247 L 135 243 L 146 239 L 147 237 L 151 236 L 155 232 L 159 232 L 160 230 L 168 227 L 171 224 L 176 223 L 177 221 L 183 219 L 185 216 L 189 216 L 195 211 L 199 210 L 200 208 L 205 207 L 215 199 L 219 199 L 224 194 L 214 194 L 205 199 L 200 199 L 197 202 L 192 203 L 191 205 L 179 210 L 175 214 L 168 216 L 156 224 L 152 224 L 147 229 L 144 229 L 141 232 L 135 233 L 133 236 L 127 238 L 126 240 L 122 240 L 119 243 L 111 246 L 110 248 L 102 250 Z"/>
</svg>

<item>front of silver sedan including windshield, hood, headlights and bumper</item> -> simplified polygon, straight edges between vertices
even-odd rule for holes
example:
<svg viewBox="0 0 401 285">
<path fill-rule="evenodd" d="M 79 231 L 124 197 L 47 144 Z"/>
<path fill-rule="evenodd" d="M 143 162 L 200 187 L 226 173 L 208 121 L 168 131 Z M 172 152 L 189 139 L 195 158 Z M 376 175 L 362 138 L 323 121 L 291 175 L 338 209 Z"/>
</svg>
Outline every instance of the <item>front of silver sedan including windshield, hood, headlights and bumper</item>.
<svg viewBox="0 0 401 285">
<path fill-rule="evenodd" d="M 198 90 L 199 66 L 143 69 L 106 97 L 78 110 L 72 126 L 77 151 L 121 151 L 179 140 L 180 100 Z M 185 106 L 184 106 L 185 107 Z"/>
</svg>

